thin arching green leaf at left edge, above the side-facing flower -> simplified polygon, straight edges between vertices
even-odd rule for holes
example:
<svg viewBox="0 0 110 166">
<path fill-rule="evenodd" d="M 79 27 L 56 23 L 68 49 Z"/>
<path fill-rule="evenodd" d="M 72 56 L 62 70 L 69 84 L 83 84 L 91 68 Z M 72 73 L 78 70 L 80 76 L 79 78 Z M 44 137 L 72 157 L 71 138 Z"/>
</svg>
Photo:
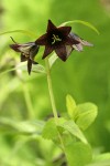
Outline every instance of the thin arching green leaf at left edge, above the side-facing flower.
<svg viewBox="0 0 110 166">
<path fill-rule="evenodd" d="M 23 34 L 26 34 L 29 37 L 33 37 L 35 38 L 36 35 L 30 31 L 26 31 L 26 30 L 14 30 L 14 31 L 7 31 L 7 32 L 2 32 L 0 33 L 0 35 L 4 35 L 4 34 L 10 34 L 10 33 L 23 33 Z"/>
</svg>

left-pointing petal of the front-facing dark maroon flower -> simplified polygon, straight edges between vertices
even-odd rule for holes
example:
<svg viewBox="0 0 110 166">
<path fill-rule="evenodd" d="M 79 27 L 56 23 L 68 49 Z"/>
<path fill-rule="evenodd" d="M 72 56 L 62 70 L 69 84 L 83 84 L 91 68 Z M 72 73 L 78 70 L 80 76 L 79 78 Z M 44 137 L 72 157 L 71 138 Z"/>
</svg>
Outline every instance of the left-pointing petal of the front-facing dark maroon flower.
<svg viewBox="0 0 110 166">
<path fill-rule="evenodd" d="M 47 33 L 41 35 L 36 41 L 36 44 L 38 45 L 46 45 L 47 44 Z"/>
</svg>

